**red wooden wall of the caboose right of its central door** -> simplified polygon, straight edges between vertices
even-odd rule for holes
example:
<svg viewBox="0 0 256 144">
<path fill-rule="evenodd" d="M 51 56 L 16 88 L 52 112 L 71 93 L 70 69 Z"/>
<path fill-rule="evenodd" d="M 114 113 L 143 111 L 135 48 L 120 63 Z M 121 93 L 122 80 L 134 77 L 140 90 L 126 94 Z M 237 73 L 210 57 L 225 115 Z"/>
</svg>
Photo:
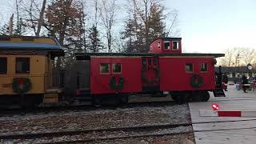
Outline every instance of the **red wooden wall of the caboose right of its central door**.
<svg viewBox="0 0 256 144">
<path fill-rule="evenodd" d="M 201 63 L 208 64 L 208 72 L 200 72 Z M 213 58 L 159 58 L 161 70 L 160 90 L 214 90 Z M 202 87 L 194 88 L 190 84 L 193 73 L 186 73 L 186 63 L 194 64 L 194 73 L 203 78 Z"/>
</svg>

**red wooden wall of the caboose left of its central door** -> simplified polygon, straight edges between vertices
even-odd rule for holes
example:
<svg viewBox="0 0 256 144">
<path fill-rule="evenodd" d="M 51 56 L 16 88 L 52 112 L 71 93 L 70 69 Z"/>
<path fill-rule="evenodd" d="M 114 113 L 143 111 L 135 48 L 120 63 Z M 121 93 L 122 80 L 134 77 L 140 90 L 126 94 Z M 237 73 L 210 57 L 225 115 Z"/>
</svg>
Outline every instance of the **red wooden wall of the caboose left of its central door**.
<svg viewBox="0 0 256 144">
<path fill-rule="evenodd" d="M 100 63 L 110 64 L 110 74 L 100 74 Z M 112 74 L 112 64 L 122 64 L 122 74 Z M 110 94 L 115 90 L 110 89 L 110 78 L 119 75 L 124 78 L 123 90 L 120 93 L 134 93 L 142 90 L 141 58 L 90 58 L 90 91 L 91 94 Z"/>
</svg>

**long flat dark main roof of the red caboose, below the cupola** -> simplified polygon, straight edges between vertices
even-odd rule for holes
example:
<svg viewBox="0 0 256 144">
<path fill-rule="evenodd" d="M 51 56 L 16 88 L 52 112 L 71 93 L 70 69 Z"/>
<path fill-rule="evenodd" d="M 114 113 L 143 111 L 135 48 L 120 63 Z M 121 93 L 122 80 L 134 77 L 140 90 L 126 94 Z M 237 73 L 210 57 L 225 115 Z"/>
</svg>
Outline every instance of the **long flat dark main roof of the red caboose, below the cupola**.
<svg viewBox="0 0 256 144">
<path fill-rule="evenodd" d="M 91 57 L 224 57 L 225 54 L 200 54 L 200 53 L 182 53 L 182 54 L 152 54 L 152 53 L 76 53 L 78 60 L 89 60 Z"/>
</svg>

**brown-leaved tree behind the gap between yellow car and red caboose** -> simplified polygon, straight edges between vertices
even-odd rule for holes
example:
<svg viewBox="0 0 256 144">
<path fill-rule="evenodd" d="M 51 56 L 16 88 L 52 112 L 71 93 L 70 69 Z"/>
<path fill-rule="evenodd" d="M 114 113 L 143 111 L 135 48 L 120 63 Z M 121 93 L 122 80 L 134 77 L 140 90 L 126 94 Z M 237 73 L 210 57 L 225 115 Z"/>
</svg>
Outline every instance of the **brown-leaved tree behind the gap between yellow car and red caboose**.
<svg viewBox="0 0 256 144">
<path fill-rule="evenodd" d="M 85 23 L 83 4 L 75 0 L 53 0 L 46 9 L 46 24 L 49 35 L 64 46 L 65 58 L 58 58 L 58 69 L 74 62 L 74 53 L 85 46 Z"/>
</svg>

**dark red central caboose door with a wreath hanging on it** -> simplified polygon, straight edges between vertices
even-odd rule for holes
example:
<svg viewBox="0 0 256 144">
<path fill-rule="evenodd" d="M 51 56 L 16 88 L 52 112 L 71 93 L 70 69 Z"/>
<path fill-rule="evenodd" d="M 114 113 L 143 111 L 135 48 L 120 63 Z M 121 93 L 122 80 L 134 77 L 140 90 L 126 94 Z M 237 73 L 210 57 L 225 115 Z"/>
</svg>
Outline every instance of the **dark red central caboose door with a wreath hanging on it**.
<svg viewBox="0 0 256 144">
<path fill-rule="evenodd" d="M 159 91 L 160 69 L 158 57 L 142 57 L 142 91 Z"/>
</svg>

